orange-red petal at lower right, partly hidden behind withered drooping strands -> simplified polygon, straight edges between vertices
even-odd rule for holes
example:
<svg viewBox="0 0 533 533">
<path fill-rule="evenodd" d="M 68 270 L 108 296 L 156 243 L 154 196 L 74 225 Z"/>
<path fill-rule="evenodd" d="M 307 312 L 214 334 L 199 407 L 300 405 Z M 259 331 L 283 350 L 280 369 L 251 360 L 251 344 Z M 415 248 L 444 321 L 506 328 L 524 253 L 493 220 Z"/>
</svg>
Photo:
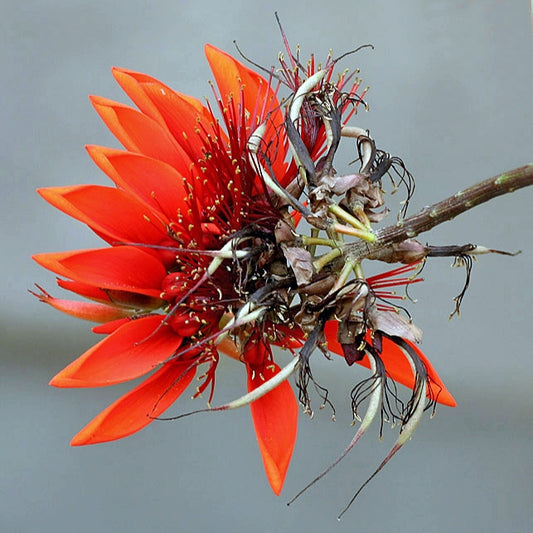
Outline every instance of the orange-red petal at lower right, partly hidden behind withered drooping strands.
<svg viewBox="0 0 533 533">
<path fill-rule="evenodd" d="M 337 341 L 337 329 L 338 323 L 334 320 L 331 320 L 326 323 L 324 332 L 328 342 L 328 349 L 338 355 L 342 355 L 342 347 Z M 456 401 L 448 389 L 444 386 L 444 383 L 433 368 L 433 365 L 429 362 L 428 358 L 413 343 L 408 342 L 408 344 L 416 351 L 426 366 L 429 376 L 428 397 L 435 398 L 438 403 L 443 405 L 455 407 L 457 405 Z M 381 353 L 381 359 L 383 360 L 387 374 L 391 379 L 401 383 L 402 385 L 405 385 L 406 387 L 409 387 L 410 389 L 414 387 L 415 378 L 413 376 L 413 371 L 409 361 L 405 357 L 402 349 L 386 337 L 383 337 L 383 351 Z M 357 361 L 357 363 L 367 368 L 370 367 L 367 357 L 365 357 L 362 361 Z"/>
</svg>

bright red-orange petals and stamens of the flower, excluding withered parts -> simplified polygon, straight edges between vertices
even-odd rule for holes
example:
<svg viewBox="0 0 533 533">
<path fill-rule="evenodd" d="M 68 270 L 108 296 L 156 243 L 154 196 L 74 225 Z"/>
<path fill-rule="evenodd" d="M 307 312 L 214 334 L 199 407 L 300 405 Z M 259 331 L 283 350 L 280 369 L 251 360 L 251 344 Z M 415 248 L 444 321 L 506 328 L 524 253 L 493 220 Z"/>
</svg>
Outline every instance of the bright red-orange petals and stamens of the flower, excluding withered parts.
<svg viewBox="0 0 533 533">
<path fill-rule="evenodd" d="M 272 346 L 296 357 L 314 330 L 301 326 L 291 311 L 287 294 L 300 283 L 283 274 L 289 267 L 289 272 L 300 271 L 290 246 L 281 246 L 278 238 L 280 227 L 300 214 L 272 190 L 298 197 L 299 161 L 290 155 L 291 150 L 301 155 L 302 149 L 295 148 L 294 134 L 285 128 L 275 78 L 255 73 L 213 46 L 205 52 L 218 88 L 215 108 L 150 76 L 119 68 L 113 76 L 137 109 L 91 97 L 124 146 L 87 148 L 114 186 L 44 188 L 39 194 L 89 226 L 106 245 L 34 256 L 59 276 L 61 288 L 87 301 L 57 299 L 40 287 L 36 296 L 62 312 L 99 322 L 94 331 L 104 335 L 51 385 L 99 387 L 148 375 L 85 426 L 72 445 L 139 431 L 159 418 L 199 373 L 195 396 L 208 391 L 211 402 L 216 368 L 225 353 L 245 365 L 260 452 L 270 485 L 279 494 L 296 440 L 298 402 L 273 360 Z M 297 94 L 319 73 L 323 80 L 318 86 L 334 88 L 332 101 L 342 112 L 353 103 L 357 87 L 341 93 L 345 79 L 333 84 L 332 66 L 320 71 L 313 63 L 303 78 L 284 68 L 283 83 Z M 307 101 L 304 111 L 306 106 L 298 138 L 317 161 L 327 149 L 328 132 Z M 258 129 L 260 135 L 254 133 Z M 251 142 L 254 134 L 257 143 Z M 317 264 L 313 269 L 318 270 Z M 365 286 L 374 294 L 380 283 L 388 286 L 381 278 L 369 278 Z M 355 298 L 353 291 L 347 294 Z M 364 349 L 354 356 L 346 348 L 352 344 L 337 340 L 342 324 L 332 313 L 322 321 L 317 345 L 372 366 Z M 374 346 L 372 328 L 365 326 L 363 337 Z M 389 378 L 414 388 L 416 373 L 397 338 L 393 331 L 372 350 L 376 357 L 379 352 Z M 412 340 L 405 343 L 414 346 Z M 453 405 L 427 359 L 417 353 L 427 372 L 427 396 Z"/>
</svg>

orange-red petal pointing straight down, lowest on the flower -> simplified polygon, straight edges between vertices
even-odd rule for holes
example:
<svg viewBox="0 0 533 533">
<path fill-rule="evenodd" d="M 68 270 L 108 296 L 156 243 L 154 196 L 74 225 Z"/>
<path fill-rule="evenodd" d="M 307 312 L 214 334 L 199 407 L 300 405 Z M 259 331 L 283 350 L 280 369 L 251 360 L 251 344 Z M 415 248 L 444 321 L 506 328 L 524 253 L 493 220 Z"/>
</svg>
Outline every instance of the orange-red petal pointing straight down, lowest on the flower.
<svg viewBox="0 0 533 533">
<path fill-rule="evenodd" d="M 274 363 L 265 366 L 262 377 L 247 365 L 248 391 L 275 376 L 280 368 Z M 298 403 L 288 381 L 284 381 L 250 405 L 255 435 L 263 465 L 272 490 L 279 496 L 289 468 L 298 428 Z"/>
</svg>

